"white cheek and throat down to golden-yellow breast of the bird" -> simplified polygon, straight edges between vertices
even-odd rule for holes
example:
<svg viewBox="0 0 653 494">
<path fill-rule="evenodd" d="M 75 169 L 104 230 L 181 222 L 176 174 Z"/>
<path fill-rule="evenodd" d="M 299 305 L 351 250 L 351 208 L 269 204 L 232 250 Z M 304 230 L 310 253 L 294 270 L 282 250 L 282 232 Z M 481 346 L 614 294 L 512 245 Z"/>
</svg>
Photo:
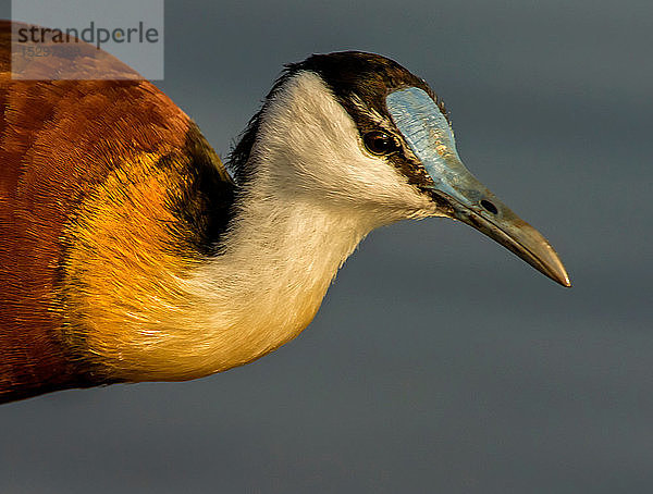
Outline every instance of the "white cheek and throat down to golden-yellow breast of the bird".
<svg viewBox="0 0 653 494">
<path fill-rule="evenodd" d="M 428 198 L 361 149 L 315 74 L 268 101 L 257 137 L 220 255 L 176 279 L 181 301 L 158 308 L 155 345 L 134 339 L 127 379 L 192 379 L 261 357 L 310 323 L 372 229 L 433 214 Z"/>
</svg>

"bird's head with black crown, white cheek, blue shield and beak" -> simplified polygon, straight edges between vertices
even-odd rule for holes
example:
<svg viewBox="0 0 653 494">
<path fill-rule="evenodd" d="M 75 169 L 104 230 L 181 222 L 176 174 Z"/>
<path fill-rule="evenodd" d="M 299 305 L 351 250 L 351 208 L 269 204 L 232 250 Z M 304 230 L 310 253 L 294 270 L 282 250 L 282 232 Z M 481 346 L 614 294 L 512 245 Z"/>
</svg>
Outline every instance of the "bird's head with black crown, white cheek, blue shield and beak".
<svg viewBox="0 0 653 494">
<path fill-rule="evenodd" d="M 346 51 L 287 65 L 231 162 L 242 184 L 256 177 L 288 203 L 346 210 L 370 227 L 460 220 L 570 286 L 547 240 L 463 164 L 442 100 L 384 57 Z"/>
</svg>

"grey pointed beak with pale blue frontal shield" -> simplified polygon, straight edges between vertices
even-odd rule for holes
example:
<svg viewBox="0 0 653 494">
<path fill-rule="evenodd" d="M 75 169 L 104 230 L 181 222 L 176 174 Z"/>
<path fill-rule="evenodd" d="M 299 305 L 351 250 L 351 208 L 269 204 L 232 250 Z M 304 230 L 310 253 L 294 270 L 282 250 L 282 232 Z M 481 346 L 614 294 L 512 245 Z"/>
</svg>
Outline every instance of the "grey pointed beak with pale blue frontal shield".
<svg viewBox="0 0 653 494">
<path fill-rule="evenodd" d="M 433 180 L 426 188 L 451 218 L 484 233 L 560 285 L 571 286 L 546 238 L 465 168 L 448 122 L 426 91 L 416 87 L 398 89 L 387 96 L 386 104 L 406 143 Z"/>
</svg>

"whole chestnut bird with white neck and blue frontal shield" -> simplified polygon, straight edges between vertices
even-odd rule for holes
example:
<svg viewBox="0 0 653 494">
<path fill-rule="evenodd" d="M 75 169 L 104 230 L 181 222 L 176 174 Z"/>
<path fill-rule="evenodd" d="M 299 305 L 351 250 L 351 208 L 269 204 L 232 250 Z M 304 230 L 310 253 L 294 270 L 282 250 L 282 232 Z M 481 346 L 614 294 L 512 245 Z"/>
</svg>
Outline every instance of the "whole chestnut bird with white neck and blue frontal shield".
<svg viewBox="0 0 653 494">
<path fill-rule="evenodd" d="M 98 64 L 110 78 L 86 77 Z M 389 58 L 285 65 L 226 165 L 112 55 L 79 45 L 41 65 L 12 77 L 0 23 L 0 403 L 251 362 L 309 325 L 366 235 L 402 220 L 467 223 L 570 286 L 465 168 L 442 99 Z M 44 76 L 64 65 L 75 77 Z"/>
</svg>

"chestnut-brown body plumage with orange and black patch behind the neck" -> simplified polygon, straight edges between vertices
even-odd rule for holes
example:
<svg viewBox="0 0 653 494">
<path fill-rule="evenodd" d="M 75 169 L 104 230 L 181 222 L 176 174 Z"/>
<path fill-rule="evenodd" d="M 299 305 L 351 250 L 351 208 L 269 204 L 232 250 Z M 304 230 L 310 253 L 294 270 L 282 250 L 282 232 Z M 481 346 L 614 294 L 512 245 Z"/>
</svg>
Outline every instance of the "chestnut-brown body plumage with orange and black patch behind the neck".
<svg viewBox="0 0 653 494">
<path fill-rule="evenodd" d="M 114 380 L 94 369 L 78 334 L 64 334 L 84 289 L 76 270 L 130 279 L 144 264 L 138 249 L 173 251 L 181 270 L 210 251 L 234 192 L 197 126 L 151 83 L 14 81 L 10 44 L 2 22 L 0 402 Z M 100 242 L 122 262 L 106 263 Z M 75 252 L 93 260 L 75 265 Z M 150 259 L 152 280 L 165 258 Z"/>
</svg>

